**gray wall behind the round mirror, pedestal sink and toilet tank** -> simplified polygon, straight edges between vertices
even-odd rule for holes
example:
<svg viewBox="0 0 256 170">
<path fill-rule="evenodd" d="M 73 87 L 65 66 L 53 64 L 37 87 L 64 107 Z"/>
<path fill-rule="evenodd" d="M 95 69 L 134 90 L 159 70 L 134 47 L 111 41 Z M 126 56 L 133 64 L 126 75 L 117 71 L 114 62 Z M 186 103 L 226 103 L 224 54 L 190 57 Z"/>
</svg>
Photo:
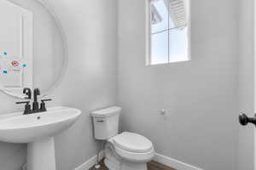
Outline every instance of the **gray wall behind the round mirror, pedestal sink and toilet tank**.
<svg viewBox="0 0 256 170">
<path fill-rule="evenodd" d="M 83 111 L 79 122 L 55 139 L 58 169 L 71 170 L 96 155 L 90 111 L 116 104 L 116 0 L 48 1 L 67 32 L 70 54 L 67 74 L 49 105 Z M 0 114 L 21 111 L 15 101 L 0 93 Z M 0 150 L 0 169 L 20 170 L 26 145 L 1 143 Z"/>
</svg>

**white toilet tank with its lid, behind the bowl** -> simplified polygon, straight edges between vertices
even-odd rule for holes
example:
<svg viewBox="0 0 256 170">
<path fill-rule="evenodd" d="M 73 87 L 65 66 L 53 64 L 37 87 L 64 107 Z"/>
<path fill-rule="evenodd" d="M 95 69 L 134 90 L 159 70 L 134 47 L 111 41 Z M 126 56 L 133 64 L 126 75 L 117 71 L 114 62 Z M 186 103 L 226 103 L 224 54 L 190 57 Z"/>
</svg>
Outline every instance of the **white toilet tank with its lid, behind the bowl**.
<svg viewBox="0 0 256 170">
<path fill-rule="evenodd" d="M 113 106 L 91 112 L 95 139 L 106 140 L 119 133 L 119 114 L 121 110 L 120 107 Z"/>
</svg>

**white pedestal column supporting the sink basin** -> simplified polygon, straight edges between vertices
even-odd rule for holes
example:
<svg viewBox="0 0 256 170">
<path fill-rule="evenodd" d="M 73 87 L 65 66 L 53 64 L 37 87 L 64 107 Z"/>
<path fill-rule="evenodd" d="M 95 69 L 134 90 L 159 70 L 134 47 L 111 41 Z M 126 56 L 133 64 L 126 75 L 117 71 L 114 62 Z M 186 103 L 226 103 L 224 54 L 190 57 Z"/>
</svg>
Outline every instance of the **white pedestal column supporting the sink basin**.
<svg viewBox="0 0 256 170">
<path fill-rule="evenodd" d="M 27 144 L 27 170 L 56 170 L 54 138 Z"/>
</svg>

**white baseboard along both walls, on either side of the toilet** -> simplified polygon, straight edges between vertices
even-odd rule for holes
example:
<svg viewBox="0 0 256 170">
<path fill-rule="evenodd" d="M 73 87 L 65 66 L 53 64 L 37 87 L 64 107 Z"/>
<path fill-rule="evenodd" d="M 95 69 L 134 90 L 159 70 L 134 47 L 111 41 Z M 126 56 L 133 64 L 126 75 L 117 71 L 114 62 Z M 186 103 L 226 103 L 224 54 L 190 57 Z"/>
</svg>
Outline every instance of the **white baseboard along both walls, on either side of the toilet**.
<svg viewBox="0 0 256 170">
<path fill-rule="evenodd" d="M 104 156 L 104 152 L 102 151 L 100 158 L 102 159 L 103 156 Z M 97 156 L 93 156 L 89 160 L 85 161 L 82 165 L 75 168 L 74 170 L 88 170 L 90 169 L 90 167 L 93 167 L 96 164 L 96 161 L 97 161 Z M 155 154 L 154 161 L 158 161 L 163 165 L 166 165 L 168 167 L 173 167 L 177 170 L 203 170 L 199 167 L 194 167 L 182 161 L 177 161 L 175 159 L 160 155 L 158 153 Z"/>
</svg>

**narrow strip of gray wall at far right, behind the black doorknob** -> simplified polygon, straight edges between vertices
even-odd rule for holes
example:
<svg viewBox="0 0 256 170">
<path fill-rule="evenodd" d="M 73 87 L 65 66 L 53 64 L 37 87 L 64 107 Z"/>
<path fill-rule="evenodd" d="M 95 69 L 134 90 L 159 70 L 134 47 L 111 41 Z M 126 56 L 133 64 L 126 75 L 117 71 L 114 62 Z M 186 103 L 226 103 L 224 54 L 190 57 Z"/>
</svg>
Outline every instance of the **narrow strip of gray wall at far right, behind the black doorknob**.
<svg viewBox="0 0 256 170">
<path fill-rule="evenodd" d="M 239 6 L 239 111 L 253 116 L 253 0 Z M 253 170 L 253 126 L 240 126 L 238 156 L 239 170 Z"/>
</svg>

